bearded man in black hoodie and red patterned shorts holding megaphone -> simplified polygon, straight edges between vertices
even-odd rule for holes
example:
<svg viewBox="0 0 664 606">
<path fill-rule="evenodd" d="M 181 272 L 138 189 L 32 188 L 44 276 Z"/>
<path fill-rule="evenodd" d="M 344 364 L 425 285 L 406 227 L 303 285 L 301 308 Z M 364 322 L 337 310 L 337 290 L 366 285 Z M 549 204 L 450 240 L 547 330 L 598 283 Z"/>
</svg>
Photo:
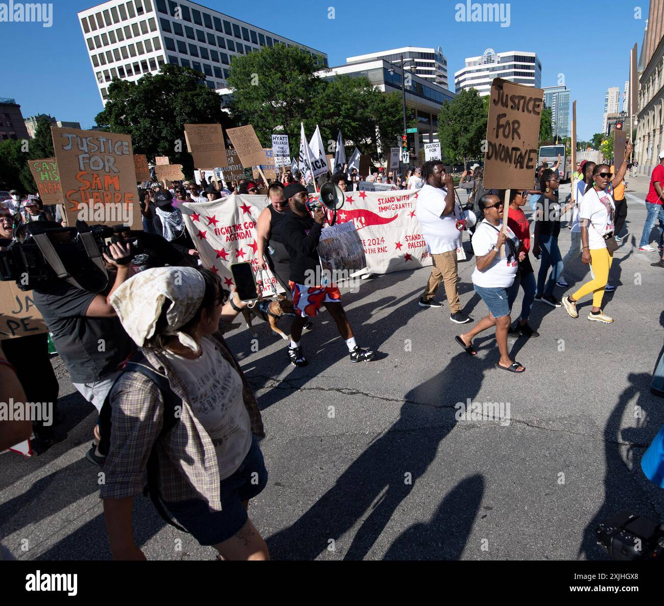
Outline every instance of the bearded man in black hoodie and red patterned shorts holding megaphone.
<svg viewBox="0 0 664 606">
<path fill-rule="evenodd" d="M 291 325 L 291 341 L 288 348 L 291 364 L 293 366 L 307 364 L 299 340 L 307 320 L 317 316 L 321 306 L 327 309 L 337 324 L 339 334 L 348 347 L 351 361 L 373 359 L 375 352 L 363 350 L 355 343 L 353 330 L 341 305 L 339 287 L 334 282 L 321 284 L 323 279 L 318 243 L 325 223 L 323 207 L 317 205 L 313 209 L 312 219 L 307 208 L 307 189 L 300 183 L 287 185 L 284 188 L 284 197 L 288 200 L 288 211 L 281 223 L 282 239 L 290 254 L 288 285 L 291 288 L 293 306 L 297 314 Z"/>
</svg>

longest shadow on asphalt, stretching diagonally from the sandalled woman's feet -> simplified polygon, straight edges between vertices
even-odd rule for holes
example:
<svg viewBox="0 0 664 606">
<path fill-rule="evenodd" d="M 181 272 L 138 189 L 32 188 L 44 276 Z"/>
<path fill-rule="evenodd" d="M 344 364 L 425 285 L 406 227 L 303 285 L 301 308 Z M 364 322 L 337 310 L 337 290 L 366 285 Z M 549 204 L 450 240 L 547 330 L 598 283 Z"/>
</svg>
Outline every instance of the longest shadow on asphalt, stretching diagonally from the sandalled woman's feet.
<svg viewBox="0 0 664 606">
<path fill-rule="evenodd" d="M 367 556 L 392 514 L 436 458 L 440 443 L 456 425 L 454 404 L 475 398 L 486 368 L 482 365 L 468 373 L 467 355 L 461 352 L 442 371 L 408 391 L 399 419 L 349 465 L 305 514 L 267 539 L 272 556 L 315 559 L 328 547 L 329 539 L 335 540 L 336 550 L 344 554 L 344 559 Z M 412 483 L 406 482 L 406 474 L 410 474 Z M 367 518 L 344 549 L 343 535 L 363 516 Z M 462 548 L 457 542 L 455 551 Z"/>
</svg>

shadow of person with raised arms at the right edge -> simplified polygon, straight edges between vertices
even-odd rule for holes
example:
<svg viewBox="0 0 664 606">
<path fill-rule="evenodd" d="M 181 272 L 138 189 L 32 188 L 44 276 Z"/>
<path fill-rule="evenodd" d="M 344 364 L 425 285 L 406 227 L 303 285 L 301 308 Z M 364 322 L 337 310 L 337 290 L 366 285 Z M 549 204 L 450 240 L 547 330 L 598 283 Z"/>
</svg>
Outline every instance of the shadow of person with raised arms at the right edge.
<svg viewBox="0 0 664 606">
<path fill-rule="evenodd" d="M 650 373 L 630 373 L 629 386 L 618 397 L 618 403 L 604 426 L 604 502 L 586 526 L 578 556 L 587 559 L 606 559 L 606 552 L 597 545 L 596 528 L 620 510 L 627 509 L 658 520 L 661 512 L 650 502 L 641 484 L 647 482 L 642 476 L 641 466 L 633 454 L 636 449 L 645 450 L 664 421 L 661 400 L 649 391 Z M 635 406 L 640 407 L 643 422 L 639 427 L 621 429 L 623 415 L 629 402 L 636 397 Z M 630 415 L 633 417 L 633 415 Z M 627 458 L 631 467 L 623 460 L 623 445 L 629 443 Z"/>
</svg>

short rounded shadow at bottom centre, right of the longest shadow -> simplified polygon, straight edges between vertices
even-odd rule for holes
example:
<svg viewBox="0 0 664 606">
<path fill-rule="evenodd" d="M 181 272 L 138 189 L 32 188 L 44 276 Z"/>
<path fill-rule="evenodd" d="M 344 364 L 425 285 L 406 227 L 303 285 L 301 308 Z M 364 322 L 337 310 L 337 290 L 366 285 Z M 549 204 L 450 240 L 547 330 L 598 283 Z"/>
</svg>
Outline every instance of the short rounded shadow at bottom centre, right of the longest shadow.
<svg viewBox="0 0 664 606">
<path fill-rule="evenodd" d="M 430 522 L 406 528 L 384 559 L 460 559 L 484 496 L 484 476 L 463 478 L 436 510 Z"/>
</svg>

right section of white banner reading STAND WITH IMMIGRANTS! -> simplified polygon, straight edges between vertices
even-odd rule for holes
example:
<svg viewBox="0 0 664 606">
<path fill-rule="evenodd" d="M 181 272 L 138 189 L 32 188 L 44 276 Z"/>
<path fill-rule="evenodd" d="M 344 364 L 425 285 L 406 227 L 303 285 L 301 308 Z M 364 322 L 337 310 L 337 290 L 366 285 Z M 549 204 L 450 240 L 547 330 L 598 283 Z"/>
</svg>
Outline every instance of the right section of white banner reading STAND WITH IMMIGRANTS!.
<svg viewBox="0 0 664 606">
<path fill-rule="evenodd" d="M 337 223 L 353 221 L 367 256 L 367 270 L 387 274 L 431 264 L 415 217 L 418 191 L 348 191 Z"/>
</svg>

